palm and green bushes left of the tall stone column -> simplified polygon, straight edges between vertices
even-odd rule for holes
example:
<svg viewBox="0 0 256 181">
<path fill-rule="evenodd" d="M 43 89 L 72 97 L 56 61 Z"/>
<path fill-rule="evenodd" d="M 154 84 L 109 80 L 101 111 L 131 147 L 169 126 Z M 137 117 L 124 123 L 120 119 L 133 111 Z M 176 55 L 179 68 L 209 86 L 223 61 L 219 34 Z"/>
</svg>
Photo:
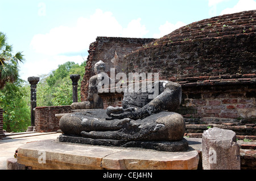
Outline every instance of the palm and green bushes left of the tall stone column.
<svg viewBox="0 0 256 181">
<path fill-rule="evenodd" d="M 19 79 L 22 52 L 13 54 L 13 46 L 0 32 L 0 107 L 3 108 L 3 129 L 7 132 L 26 131 L 30 124 L 29 92 Z"/>
</svg>

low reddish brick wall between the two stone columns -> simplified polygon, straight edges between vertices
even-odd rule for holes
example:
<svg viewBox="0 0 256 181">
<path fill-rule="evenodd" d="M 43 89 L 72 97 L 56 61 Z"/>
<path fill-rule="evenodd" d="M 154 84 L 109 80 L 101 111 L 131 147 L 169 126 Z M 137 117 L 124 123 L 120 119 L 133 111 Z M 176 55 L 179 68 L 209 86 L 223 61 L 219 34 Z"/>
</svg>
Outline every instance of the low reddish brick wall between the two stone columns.
<svg viewBox="0 0 256 181">
<path fill-rule="evenodd" d="M 59 129 L 57 113 L 70 113 L 71 106 L 49 106 L 35 108 L 35 131 L 54 132 Z"/>
</svg>

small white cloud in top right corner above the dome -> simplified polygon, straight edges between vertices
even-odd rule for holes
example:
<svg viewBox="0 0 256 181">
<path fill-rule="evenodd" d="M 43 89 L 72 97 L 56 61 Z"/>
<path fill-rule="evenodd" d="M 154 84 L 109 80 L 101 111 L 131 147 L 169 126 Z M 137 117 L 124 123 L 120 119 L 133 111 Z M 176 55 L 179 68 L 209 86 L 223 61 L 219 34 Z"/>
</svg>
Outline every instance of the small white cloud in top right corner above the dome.
<svg viewBox="0 0 256 181">
<path fill-rule="evenodd" d="M 227 8 L 223 11 L 221 11 L 220 15 L 224 14 L 232 14 L 236 12 L 241 11 L 249 11 L 249 10 L 255 10 L 256 9 L 256 2 L 253 0 L 240 0 L 238 1 L 237 5 L 235 5 L 232 8 Z"/>
</svg>

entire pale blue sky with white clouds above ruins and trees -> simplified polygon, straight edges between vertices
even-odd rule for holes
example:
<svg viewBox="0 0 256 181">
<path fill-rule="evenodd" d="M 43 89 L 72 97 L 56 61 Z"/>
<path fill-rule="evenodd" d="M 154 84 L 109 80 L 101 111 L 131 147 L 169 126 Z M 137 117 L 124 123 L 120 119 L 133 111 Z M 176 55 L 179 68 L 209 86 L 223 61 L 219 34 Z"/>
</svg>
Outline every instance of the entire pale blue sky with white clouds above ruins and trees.
<svg viewBox="0 0 256 181">
<path fill-rule="evenodd" d="M 0 0 L 0 31 L 23 51 L 20 77 L 81 63 L 97 36 L 159 38 L 181 26 L 256 9 L 256 0 Z M 82 58 L 83 57 L 83 58 Z"/>
</svg>

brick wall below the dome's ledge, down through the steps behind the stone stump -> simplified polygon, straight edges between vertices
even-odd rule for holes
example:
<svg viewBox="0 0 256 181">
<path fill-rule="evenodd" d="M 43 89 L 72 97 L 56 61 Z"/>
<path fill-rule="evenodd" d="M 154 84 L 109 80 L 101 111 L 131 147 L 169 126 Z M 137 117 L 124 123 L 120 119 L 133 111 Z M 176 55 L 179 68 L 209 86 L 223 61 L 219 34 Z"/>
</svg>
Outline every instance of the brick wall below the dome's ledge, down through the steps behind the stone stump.
<svg viewBox="0 0 256 181">
<path fill-rule="evenodd" d="M 183 94 L 177 112 L 186 122 L 186 136 L 202 137 L 209 127 L 230 129 L 237 138 L 256 140 L 255 74 L 171 78 Z"/>
</svg>

